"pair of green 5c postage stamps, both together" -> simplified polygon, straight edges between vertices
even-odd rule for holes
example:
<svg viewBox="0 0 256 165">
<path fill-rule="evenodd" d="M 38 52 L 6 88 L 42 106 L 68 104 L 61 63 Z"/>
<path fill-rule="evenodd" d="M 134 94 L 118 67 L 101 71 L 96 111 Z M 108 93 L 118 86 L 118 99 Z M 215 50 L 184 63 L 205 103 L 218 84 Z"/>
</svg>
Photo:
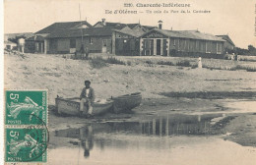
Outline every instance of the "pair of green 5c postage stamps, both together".
<svg viewBox="0 0 256 165">
<path fill-rule="evenodd" d="M 5 161 L 47 161 L 47 90 L 5 90 Z"/>
</svg>

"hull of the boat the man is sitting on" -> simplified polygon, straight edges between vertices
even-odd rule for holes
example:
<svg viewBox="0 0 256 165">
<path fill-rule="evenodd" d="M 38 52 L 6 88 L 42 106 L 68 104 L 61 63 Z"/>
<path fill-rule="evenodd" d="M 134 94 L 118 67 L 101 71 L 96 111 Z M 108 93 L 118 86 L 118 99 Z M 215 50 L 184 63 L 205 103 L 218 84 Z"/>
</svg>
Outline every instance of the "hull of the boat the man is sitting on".
<svg viewBox="0 0 256 165">
<path fill-rule="evenodd" d="M 71 116 L 80 116 L 80 100 L 78 98 L 61 98 L 57 97 L 55 98 L 55 105 L 56 105 L 56 111 L 58 114 L 66 114 Z M 93 114 L 96 115 L 102 115 L 104 113 L 107 113 L 111 111 L 113 106 L 112 100 L 107 100 L 105 103 L 99 103 L 95 102 L 93 104 Z M 88 106 L 85 103 L 85 109 L 83 113 L 88 112 Z"/>
</svg>

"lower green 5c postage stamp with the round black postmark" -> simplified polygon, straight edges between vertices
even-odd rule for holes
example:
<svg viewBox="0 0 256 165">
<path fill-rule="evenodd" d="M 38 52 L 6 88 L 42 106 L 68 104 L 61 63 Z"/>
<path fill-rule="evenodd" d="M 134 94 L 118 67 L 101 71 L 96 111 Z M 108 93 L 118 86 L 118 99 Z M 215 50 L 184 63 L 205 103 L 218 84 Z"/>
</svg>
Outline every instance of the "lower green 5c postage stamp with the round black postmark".
<svg viewBox="0 0 256 165">
<path fill-rule="evenodd" d="M 46 127 L 6 128 L 6 162 L 46 162 L 48 132 Z"/>
</svg>

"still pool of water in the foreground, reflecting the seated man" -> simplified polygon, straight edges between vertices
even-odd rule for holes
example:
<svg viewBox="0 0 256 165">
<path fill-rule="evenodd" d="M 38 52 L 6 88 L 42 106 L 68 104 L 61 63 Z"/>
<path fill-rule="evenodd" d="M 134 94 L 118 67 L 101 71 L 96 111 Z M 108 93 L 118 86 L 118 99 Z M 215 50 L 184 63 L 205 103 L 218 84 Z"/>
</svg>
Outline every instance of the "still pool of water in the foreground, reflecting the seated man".
<svg viewBox="0 0 256 165">
<path fill-rule="evenodd" d="M 256 150 L 220 138 L 223 114 L 166 115 L 52 133 L 51 164 L 255 164 Z M 214 122 L 213 122 L 214 121 Z M 212 135 L 212 136 L 210 136 Z M 215 136 L 213 136 L 215 135 Z M 50 138 L 50 140 L 51 140 Z"/>
</svg>

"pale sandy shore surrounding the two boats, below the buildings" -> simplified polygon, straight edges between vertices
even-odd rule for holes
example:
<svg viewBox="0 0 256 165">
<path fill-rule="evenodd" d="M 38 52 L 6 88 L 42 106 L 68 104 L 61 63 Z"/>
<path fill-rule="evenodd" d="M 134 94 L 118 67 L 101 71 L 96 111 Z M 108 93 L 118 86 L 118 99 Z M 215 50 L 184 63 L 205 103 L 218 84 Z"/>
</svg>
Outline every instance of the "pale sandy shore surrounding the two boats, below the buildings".
<svg viewBox="0 0 256 165">
<path fill-rule="evenodd" d="M 132 61 L 129 58 L 126 61 Z M 125 57 L 120 59 L 125 61 Z M 182 59 L 184 58 L 180 58 Z M 171 61 L 172 58 L 167 60 Z M 85 80 L 92 81 L 98 98 L 140 91 L 143 94 L 143 103 L 134 109 L 133 114 L 107 114 L 92 120 L 77 117 L 68 117 L 67 120 L 56 116 L 51 111 L 54 109 L 52 105 L 56 95 L 78 96 Z M 140 58 L 131 66 L 109 65 L 102 69 L 93 69 L 88 61 L 64 59 L 57 55 L 27 54 L 25 58 L 5 55 L 5 88 L 48 89 L 50 131 L 78 128 L 87 122 L 104 120 L 136 121 L 145 115 L 225 113 L 230 110 L 226 106 L 228 100 L 225 99 L 254 99 L 255 83 L 255 73 L 251 72 L 146 65 Z M 240 92 L 243 92 L 243 95 L 239 95 Z M 198 94 L 193 96 L 194 93 L 203 96 L 197 98 Z M 223 94 L 224 97 L 212 99 L 209 95 L 213 93 Z M 180 98 L 178 94 L 181 95 Z M 185 98 L 184 95 L 189 94 L 192 97 Z M 209 99 L 202 99 L 204 97 Z M 235 118 L 222 128 L 226 133 L 230 133 L 224 138 L 242 145 L 255 146 L 256 115 L 249 113 L 234 116 Z"/>
</svg>

